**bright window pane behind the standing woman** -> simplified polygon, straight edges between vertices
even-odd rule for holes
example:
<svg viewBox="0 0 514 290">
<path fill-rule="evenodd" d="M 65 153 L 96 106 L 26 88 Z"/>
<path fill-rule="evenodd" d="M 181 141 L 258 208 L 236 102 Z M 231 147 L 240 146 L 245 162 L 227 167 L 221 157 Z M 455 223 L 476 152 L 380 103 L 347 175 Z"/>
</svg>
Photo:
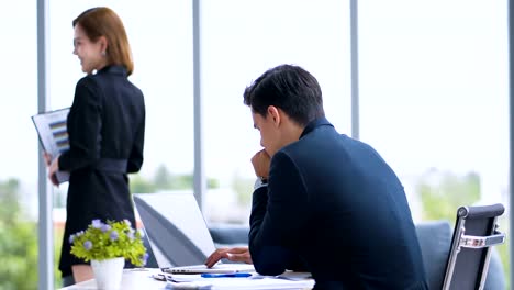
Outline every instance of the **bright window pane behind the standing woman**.
<svg viewBox="0 0 514 290">
<path fill-rule="evenodd" d="M 189 1 L 51 1 L 52 109 L 70 107 L 75 86 L 85 76 L 72 54 L 71 22 L 85 10 L 99 5 L 111 8 L 122 19 L 134 58 L 130 80 L 145 96 L 144 164 L 139 174 L 131 176 L 131 189 L 133 193 L 191 190 L 194 156 Z M 60 207 L 56 216 L 64 220 L 66 187 L 56 194 L 56 208 Z M 56 243 L 60 247 L 60 239 Z"/>
</svg>

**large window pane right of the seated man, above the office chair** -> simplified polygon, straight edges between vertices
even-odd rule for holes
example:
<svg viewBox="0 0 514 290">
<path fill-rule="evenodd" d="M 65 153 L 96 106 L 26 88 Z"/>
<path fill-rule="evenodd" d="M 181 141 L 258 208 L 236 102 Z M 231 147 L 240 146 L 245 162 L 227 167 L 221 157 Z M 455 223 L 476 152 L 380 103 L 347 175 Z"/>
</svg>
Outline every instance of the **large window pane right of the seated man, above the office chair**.
<svg viewBox="0 0 514 290">
<path fill-rule="evenodd" d="M 400 175 L 414 217 L 507 204 L 506 1 L 359 4 L 361 137 Z"/>
</svg>

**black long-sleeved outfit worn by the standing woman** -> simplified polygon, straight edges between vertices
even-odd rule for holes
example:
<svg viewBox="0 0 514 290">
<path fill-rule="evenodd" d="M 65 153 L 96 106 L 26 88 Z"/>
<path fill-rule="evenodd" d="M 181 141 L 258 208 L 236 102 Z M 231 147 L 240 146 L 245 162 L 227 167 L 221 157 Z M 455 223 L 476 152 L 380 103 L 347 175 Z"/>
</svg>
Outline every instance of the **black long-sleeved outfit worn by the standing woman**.
<svg viewBox="0 0 514 290">
<path fill-rule="evenodd" d="M 59 169 L 70 171 L 63 276 L 85 263 L 69 254 L 70 234 L 94 219 L 126 219 L 135 226 L 126 174 L 143 165 L 145 103 L 124 67 L 109 66 L 78 81 L 67 127 L 70 148 L 59 157 Z"/>
</svg>

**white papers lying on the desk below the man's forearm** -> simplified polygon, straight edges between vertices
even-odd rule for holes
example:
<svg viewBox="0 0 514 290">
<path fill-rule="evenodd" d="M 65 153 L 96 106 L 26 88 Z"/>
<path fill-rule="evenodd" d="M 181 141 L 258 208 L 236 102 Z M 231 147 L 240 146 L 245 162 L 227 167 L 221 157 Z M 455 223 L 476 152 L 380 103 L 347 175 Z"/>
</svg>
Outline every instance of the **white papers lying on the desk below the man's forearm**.
<svg viewBox="0 0 514 290">
<path fill-rule="evenodd" d="M 314 280 L 305 272 L 284 272 L 279 276 L 242 278 L 203 278 L 201 275 L 167 275 L 166 289 L 232 290 L 232 289 L 311 289 Z"/>
</svg>

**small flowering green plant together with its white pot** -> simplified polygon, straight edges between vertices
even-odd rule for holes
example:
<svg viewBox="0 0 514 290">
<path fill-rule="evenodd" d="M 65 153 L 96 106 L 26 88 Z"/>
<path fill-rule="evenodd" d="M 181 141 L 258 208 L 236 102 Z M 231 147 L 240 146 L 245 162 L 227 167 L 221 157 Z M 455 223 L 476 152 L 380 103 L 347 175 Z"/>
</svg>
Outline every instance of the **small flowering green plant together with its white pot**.
<svg viewBox="0 0 514 290">
<path fill-rule="evenodd" d="M 119 289 L 125 259 L 134 266 L 144 266 L 148 254 L 143 245 L 143 233 L 131 227 L 128 220 L 93 220 L 86 231 L 69 237 L 71 254 L 91 260 L 99 289 Z"/>
</svg>

